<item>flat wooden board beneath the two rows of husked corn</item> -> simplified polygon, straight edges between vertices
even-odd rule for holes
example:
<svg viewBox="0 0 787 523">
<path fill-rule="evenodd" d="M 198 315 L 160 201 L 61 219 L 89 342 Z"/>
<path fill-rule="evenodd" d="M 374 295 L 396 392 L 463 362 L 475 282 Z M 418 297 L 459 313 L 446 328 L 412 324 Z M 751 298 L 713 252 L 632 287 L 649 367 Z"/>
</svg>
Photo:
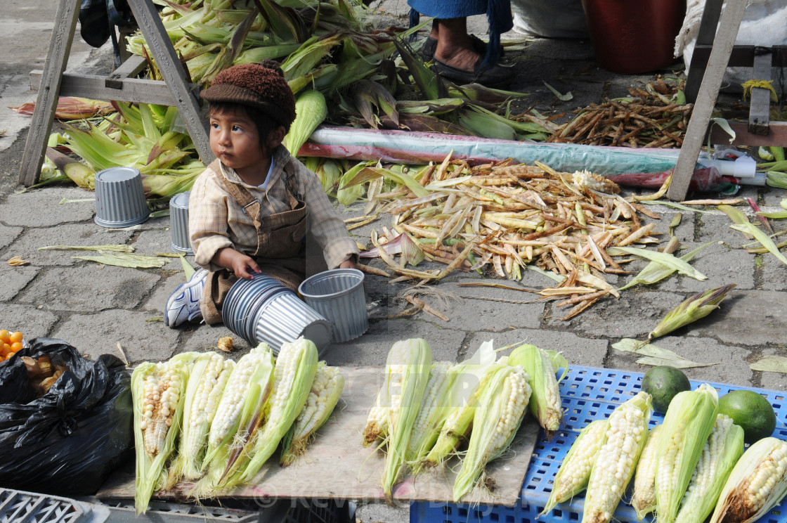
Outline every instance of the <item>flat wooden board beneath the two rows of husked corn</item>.
<svg viewBox="0 0 787 523">
<path fill-rule="evenodd" d="M 227 498 L 272 499 L 385 499 L 380 487 L 384 464 L 382 452 L 361 445 L 361 432 L 375 395 L 382 385 L 384 369 L 364 367 L 342 369 L 345 388 L 342 401 L 331 419 L 317 433 L 308 451 L 293 465 L 279 466 L 278 453 L 260 469 L 253 485 L 227 493 Z M 487 466 L 487 488 L 475 488 L 464 503 L 513 506 L 519 500 L 522 484 L 533 454 L 540 427 L 527 414 L 509 450 Z M 453 480 L 459 460 L 452 458 L 445 471 L 407 476 L 394 488 L 397 501 L 452 502 Z M 179 491 L 158 493 L 154 498 L 177 499 Z M 99 499 L 134 497 L 134 464 L 119 470 L 105 482 Z"/>
</svg>

